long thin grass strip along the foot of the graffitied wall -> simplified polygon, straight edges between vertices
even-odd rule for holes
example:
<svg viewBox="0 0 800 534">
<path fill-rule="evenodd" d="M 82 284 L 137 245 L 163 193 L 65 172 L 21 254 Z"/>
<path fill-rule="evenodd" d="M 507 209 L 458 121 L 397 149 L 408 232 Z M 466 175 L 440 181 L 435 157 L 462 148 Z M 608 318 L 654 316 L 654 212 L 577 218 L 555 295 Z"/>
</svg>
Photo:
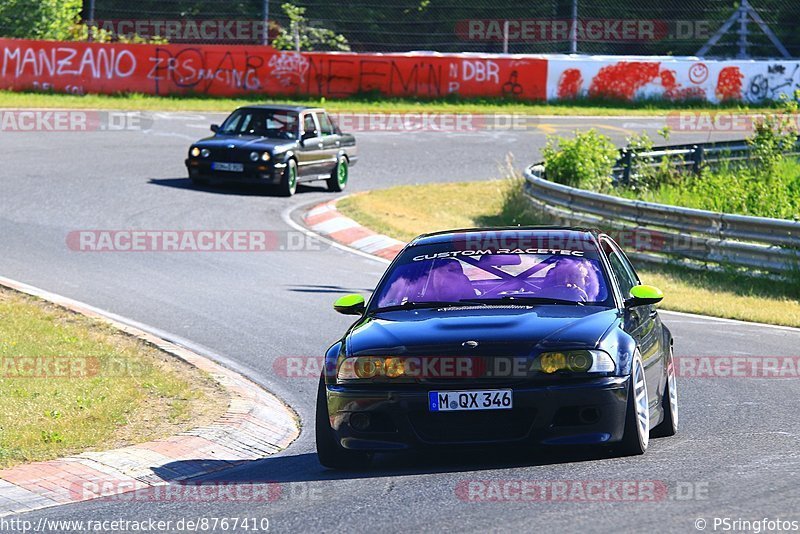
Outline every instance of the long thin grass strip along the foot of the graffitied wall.
<svg viewBox="0 0 800 534">
<path fill-rule="evenodd" d="M 733 110 L 742 113 L 763 113 L 774 110 L 775 105 L 750 108 L 739 103 L 711 105 L 700 101 L 669 102 L 648 100 L 624 102 L 616 100 L 573 100 L 569 102 L 528 103 L 504 99 L 442 98 L 419 100 L 413 98 L 385 98 L 353 96 L 345 99 L 325 98 L 273 98 L 252 95 L 236 98 L 219 98 L 204 95 L 152 96 L 138 93 L 117 95 L 66 95 L 42 92 L 0 91 L 0 108 L 70 108 L 70 109 L 125 109 L 153 111 L 219 111 L 230 112 L 236 107 L 252 103 L 292 103 L 324 106 L 331 112 L 416 112 L 416 113 L 516 113 L 525 115 L 665 115 L 669 111 L 691 109 L 697 111 Z"/>
</svg>

